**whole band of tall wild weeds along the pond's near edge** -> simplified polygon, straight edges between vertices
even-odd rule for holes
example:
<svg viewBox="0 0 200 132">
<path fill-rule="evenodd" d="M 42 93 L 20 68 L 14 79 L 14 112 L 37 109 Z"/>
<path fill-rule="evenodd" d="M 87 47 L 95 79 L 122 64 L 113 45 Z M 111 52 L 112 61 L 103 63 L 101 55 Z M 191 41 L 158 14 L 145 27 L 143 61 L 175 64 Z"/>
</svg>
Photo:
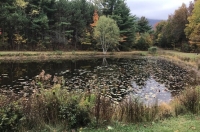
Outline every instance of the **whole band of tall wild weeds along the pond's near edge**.
<svg viewBox="0 0 200 132">
<path fill-rule="evenodd" d="M 191 112 L 199 114 L 199 87 L 186 89 L 171 104 L 146 106 L 127 98 L 113 103 L 99 93 L 77 93 L 55 85 L 29 98 L 0 96 L 0 131 L 64 131 L 114 122 L 153 122 Z"/>
</svg>

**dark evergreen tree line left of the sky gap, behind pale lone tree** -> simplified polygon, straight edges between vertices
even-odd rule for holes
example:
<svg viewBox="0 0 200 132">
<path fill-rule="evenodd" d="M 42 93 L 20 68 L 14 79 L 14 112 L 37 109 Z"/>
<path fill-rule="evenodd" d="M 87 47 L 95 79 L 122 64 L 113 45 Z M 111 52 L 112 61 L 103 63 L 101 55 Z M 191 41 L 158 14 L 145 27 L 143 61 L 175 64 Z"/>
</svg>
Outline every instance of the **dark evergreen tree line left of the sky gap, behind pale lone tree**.
<svg viewBox="0 0 200 132">
<path fill-rule="evenodd" d="M 125 0 L 1 0 L 0 50 L 99 49 L 91 26 L 95 11 L 119 28 L 112 50 L 150 46 L 139 43 L 152 33 L 148 20 L 131 15 Z"/>
</svg>

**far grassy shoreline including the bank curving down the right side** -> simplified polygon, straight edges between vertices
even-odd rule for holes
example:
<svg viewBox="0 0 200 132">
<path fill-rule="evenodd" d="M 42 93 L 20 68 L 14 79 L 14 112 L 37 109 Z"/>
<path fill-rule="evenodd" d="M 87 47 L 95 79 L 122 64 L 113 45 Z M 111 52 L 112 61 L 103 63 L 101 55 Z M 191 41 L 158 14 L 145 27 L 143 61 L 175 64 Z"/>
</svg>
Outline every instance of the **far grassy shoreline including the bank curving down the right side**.
<svg viewBox="0 0 200 132">
<path fill-rule="evenodd" d="M 133 58 L 137 56 L 154 57 L 173 62 L 188 71 L 196 72 L 200 78 L 198 61 L 200 56 L 192 53 L 183 53 L 171 50 L 159 49 L 156 55 L 148 54 L 148 51 L 107 52 L 99 51 L 1 51 L 0 62 L 41 62 L 54 60 L 83 60 L 93 58 Z M 192 57 L 191 57 L 192 56 Z M 187 59 L 187 60 L 184 60 Z M 189 60 L 188 60 L 189 59 Z"/>
</svg>

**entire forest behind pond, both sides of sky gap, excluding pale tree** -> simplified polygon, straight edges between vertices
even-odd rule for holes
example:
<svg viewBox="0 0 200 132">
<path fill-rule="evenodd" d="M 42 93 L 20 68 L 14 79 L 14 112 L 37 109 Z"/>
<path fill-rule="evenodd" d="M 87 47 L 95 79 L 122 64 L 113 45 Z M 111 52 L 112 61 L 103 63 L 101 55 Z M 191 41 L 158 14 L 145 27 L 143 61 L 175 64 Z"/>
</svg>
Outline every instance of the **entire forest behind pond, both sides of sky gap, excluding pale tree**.
<svg viewBox="0 0 200 132">
<path fill-rule="evenodd" d="M 156 45 L 196 52 L 200 42 L 198 0 L 188 7 L 182 4 L 153 27 L 145 16 L 131 13 L 124 0 L 3 0 L 0 5 L 1 50 L 99 50 L 102 45 L 94 29 L 103 15 L 119 28 L 110 51 L 147 50 Z"/>
</svg>

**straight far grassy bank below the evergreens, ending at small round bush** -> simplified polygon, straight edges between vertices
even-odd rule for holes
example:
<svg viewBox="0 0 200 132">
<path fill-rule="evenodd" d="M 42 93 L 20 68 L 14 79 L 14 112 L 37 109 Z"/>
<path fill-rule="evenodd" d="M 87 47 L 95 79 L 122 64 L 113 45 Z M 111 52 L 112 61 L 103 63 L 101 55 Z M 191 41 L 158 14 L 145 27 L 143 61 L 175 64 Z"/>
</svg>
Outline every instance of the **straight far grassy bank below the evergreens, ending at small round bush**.
<svg viewBox="0 0 200 132">
<path fill-rule="evenodd" d="M 6 51 L 0 52 L 0 60 L 32 60 L 32 61 L 43 61 L 43 60 L 57 60 L 57 59 L 85 59 L 94 57 L 131 57 L 132 55 L 146 55 L 147 51 L 132 51 L 132 52 L 107 52 L 103 54 L 98 51 L 47 51 L 47 52 L 33 52 L 33 51 Z"/>
</svg>

